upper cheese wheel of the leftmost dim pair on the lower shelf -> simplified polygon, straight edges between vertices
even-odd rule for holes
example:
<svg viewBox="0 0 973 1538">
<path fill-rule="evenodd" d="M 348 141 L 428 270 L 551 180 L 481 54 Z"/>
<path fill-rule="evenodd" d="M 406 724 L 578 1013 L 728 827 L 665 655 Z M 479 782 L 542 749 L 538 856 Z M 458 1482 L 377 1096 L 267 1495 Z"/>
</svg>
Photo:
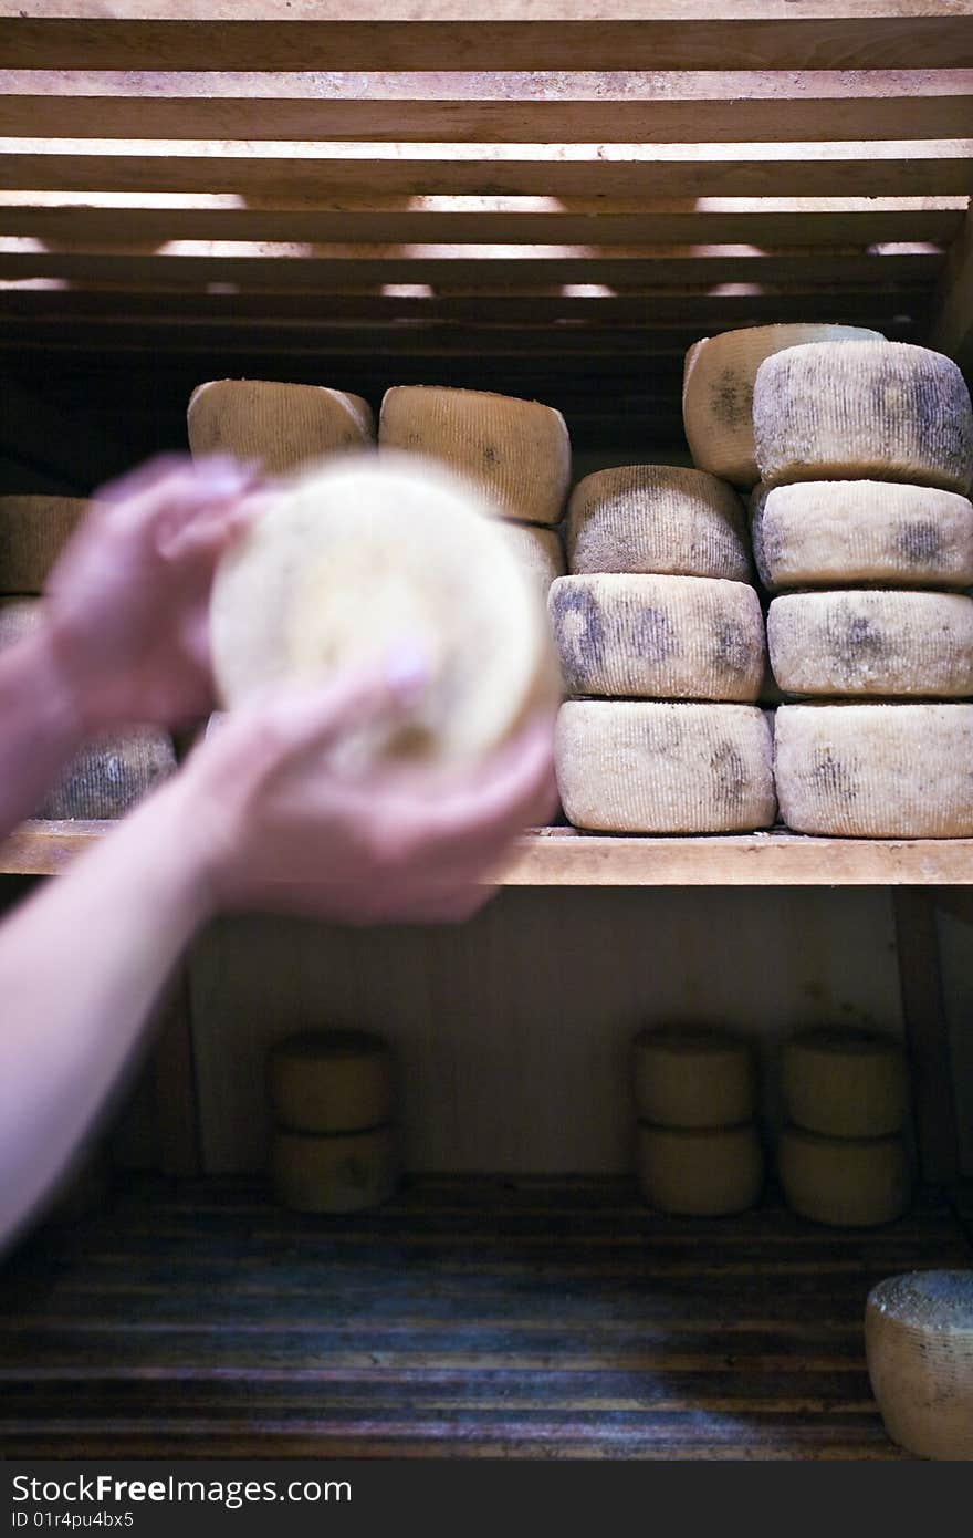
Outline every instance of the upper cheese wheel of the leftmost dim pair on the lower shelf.
<svg viewBox="0 0 973 1538">
<path fill-rule="evenodd" d="M 360 1132 L 392 1120 L 392 1054 L 367 1030 L 306 1030 L 267 1054 L 277 1123 L 294 1132 Z"/>
</svg>

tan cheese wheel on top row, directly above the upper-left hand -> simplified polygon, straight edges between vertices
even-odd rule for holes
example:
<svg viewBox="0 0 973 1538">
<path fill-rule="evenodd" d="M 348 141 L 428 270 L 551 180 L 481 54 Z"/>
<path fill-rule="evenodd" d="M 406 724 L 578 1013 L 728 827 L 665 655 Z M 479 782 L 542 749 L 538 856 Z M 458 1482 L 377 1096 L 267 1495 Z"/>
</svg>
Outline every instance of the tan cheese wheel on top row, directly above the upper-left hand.
<svg viewBox="0 0 973 1538">
<path fill-rule="evenodd" d="M 369 403 L 323 384 L 209 380 L 194 389 L 186 420 L 197 458 L 234 454 L 274 475 L 375 441 Z"/>
</svg>

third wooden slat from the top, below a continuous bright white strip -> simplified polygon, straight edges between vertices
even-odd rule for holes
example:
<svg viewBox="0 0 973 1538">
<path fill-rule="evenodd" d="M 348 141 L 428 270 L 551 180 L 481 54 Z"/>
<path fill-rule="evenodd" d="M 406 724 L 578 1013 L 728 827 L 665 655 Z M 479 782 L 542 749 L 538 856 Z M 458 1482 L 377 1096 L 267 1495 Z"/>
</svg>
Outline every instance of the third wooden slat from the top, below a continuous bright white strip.
<svg viewBox="0 0 973 1538">
<path fill-rule="evenodd" d="M 956 197 L 973 140 L 781 145 L 238 143 L 3 138 L 0 186 L 106 192 L 415 197 Z"/>
</svg>

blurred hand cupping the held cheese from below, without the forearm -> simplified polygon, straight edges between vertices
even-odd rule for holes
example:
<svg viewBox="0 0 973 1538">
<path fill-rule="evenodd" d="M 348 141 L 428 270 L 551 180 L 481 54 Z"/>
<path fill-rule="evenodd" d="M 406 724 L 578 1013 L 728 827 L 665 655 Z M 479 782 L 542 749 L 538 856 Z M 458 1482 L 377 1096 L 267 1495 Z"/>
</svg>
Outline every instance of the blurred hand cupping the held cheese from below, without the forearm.
<svg viewBox="0 0 973 1538">
<path fill-rule="evenodd" d="M 330 755 L 347 734 L 420 689 L 417 669 L 375 667 L 224 718 L 181 775 L 211 909 L 449 923 L 487 901 L 507 844 L 556 806 L 553 715 L 470 769 L 340 774 Z"/>
</svg>

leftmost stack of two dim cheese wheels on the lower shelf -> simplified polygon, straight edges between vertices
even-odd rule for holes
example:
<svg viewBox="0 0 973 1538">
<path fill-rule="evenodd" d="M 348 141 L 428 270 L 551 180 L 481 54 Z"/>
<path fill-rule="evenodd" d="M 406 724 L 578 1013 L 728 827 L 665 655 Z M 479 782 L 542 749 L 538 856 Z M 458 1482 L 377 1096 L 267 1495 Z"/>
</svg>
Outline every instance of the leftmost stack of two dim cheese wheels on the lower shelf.
<svg viewBox="0 0 973 1538">
<path fill-rule="evenodd" d="M 377 1207 L 400 1180 L 389 1044 L 366 1030 L 309 1030 L 267 1057 L 271 1178 L 297 1212 Z"/>
</svg>

